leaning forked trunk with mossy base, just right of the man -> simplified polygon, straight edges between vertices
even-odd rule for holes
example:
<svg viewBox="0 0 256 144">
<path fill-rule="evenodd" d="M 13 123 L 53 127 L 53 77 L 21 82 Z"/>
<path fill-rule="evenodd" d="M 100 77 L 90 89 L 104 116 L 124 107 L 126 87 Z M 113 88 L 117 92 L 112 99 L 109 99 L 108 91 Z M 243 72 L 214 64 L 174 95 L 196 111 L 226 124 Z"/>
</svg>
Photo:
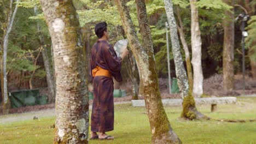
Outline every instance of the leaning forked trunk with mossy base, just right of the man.
<svg viewBox="0 0 256 144">
<path fill-rule="evenodd" d="M 147 27 L 145 3 L 144 1 L 136 1 L 136 3 L 137 9 L 139 9 L 138 16 L 142 19 L 140 21 L 144 21 L 146 24 L 144 26 Z M 115 4 L 118 7 L 125 33 L 131 45 L 132 53 L 138 62 L 138 68 L 142 76 L 141 81 L 144 86 L 144 99 L 152 132 L 152 143 L 181 143 L 178 136 L 172 130 L 162 105 L 158 76 L 156 74 L 153 57 L 153 45 L 149 45 L 149 47 L 146 48 L 139 43 L 126 3 L 121 0 L 115 0 Z M 148 28 L 146 28 L 146 31 L 150 33 Z M 142 35 L 144 34 L 146 33 L 142 33 Z M 146 42 L 147 41 L 144 41 L 143 43 Z M 151 42 L 148 41 L 148 43 Z"/>
</svg>

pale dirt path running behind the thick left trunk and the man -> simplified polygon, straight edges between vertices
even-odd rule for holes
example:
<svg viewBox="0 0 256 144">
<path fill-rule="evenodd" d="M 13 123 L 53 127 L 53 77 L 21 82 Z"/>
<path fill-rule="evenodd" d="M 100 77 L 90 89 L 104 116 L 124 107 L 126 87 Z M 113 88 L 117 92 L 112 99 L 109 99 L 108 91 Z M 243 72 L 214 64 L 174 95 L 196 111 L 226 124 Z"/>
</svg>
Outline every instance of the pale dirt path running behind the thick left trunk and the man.
<svg viewBox="0 0 256 144">
<path fill-rule="evenodd" d="M 119 104 L 129 104 L 131 101 L 122 101 L 122 102 L 115 102 L 115 105 Z M 89 109 L 91 110 L 91 105 L 89 106 Z M 30 112 L 24 112 L 24 113 L 13 113 L 9 115 L 1 115 L 0 116 L 0 124 L 4 123 L 13 123 L 18 121 L 25 121 L 36 118 L 45 118 L 45 117 L 54 117 L 55 116 L 55 109 L 45 109 L 40 111 L 30 111 Z"/>
</svg>

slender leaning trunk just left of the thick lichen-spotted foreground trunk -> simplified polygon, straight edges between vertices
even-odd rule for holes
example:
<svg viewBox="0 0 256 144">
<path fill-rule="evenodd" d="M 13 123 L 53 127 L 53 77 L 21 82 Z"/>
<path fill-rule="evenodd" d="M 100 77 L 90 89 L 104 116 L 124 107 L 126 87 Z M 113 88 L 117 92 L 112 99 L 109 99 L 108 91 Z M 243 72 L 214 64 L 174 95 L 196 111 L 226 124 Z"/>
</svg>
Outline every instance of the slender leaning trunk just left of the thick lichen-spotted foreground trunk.
<svg viewBox="0 0 256 144">
<path fill-rule="evenodd" d="M 34 13 L 36 15 L 38 15 L 37 7 L 34 7 Z M 40 45 L 43 48 L 42 56 L 44 59 L 44 69 L 46 72 L 46 81 L 47 81 L 47 86 L 48 86 L 48 92 L 50 94 L 50 95 L 48 95 L 48 103 L 54 103 L 54 101 L 55 101 L 55 81 L 53 78 L 53 70 L 50 67 L 50 60 L 48 57 L 47 48 L 44 43 L 44 36 L 41 32 L 41 27 L 40 27 L 40 24 L 38 21 L 37 21 L 37 31 L 38 31 Z"/>
</svg>

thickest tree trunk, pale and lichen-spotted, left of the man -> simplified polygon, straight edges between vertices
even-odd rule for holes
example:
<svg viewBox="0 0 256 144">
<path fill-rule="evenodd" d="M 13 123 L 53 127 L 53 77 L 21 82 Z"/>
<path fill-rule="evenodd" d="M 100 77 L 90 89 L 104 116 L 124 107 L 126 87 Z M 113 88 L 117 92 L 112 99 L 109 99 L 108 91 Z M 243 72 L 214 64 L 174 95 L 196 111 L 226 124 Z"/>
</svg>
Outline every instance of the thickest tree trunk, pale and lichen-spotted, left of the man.
<svg viewBox="0 0 256 144">
<path fill-rule="evenodd" d="M 71 0 L 40 0 L 51 35 L 56 73 L 54 143 L 88 143 L 89 98 L 77 13 Z"/>
</svg>

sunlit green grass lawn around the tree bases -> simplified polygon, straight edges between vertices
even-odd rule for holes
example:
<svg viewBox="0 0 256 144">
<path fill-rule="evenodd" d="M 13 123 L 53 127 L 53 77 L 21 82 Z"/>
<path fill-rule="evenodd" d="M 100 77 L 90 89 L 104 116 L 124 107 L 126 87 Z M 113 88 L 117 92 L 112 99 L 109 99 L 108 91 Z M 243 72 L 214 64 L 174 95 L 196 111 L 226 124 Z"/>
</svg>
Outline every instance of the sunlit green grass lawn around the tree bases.
<svg viewBox="0 0 256 144">
<path fill-rule="evenodd" d="M 256 98 L 238 98 L 237 104 L 198 106 L 213 119 L 256 119 Z M 183 143 L 256 143 L 256 122 L 228 123 L 218 121 L 184 121 L 179 119 L 181 107 L 165 107 L 171 126 Z M 89 143 L 150 143 L 150 128 L 144 107 L 130 104 L 115 106 L 114 131 L 107 134 L 114 141 L 92 140 Z M 52 143 L 50 128 L 55 118 L 42 118 L 0 125 L 0 143 Z"/>
</svg>

